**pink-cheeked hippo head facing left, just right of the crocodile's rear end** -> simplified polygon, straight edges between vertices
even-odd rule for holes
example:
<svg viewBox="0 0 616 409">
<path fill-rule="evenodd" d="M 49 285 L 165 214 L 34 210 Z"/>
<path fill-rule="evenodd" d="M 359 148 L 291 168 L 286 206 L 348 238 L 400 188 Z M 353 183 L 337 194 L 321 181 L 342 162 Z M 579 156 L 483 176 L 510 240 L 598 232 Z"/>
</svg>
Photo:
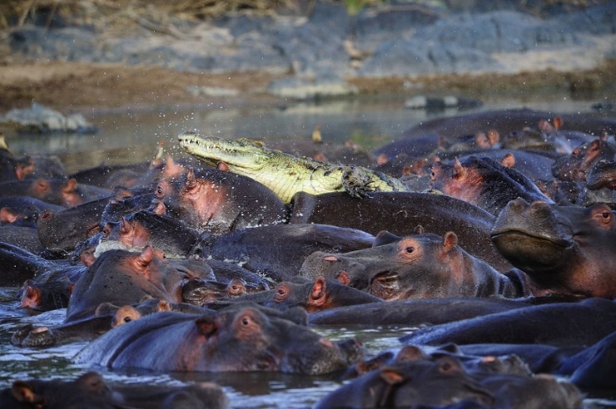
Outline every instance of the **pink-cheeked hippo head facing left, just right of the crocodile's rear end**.
<svg viewBox="0 0 616 409">
<path fill-rule="evenodd" d="M 552 202 L 524 174 L 487 157 L 468 157 L 452 165 L 435 162 L 430 187 L 498 215 L 510 200 Z"/>
</svg>

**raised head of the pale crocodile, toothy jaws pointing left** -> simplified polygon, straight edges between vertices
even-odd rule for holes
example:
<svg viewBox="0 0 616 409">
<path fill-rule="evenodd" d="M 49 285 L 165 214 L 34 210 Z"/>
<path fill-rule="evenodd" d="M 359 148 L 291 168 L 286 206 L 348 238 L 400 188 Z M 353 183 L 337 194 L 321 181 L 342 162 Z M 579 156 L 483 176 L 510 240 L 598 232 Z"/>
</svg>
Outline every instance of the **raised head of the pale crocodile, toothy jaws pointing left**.
<svg viewBox="0 0 616 409">
<path fill-rule="evenodd" d="M 183 132 L 177 136 L 180 146 L 197 159 L 211 166 L 225 163 L 231 172 L 244 173 L 261 170 L 272 155 L 259 142 L 247 139 L 227 140 L 222 137 L 203 136 L 196 132 Z"/>
</svg>

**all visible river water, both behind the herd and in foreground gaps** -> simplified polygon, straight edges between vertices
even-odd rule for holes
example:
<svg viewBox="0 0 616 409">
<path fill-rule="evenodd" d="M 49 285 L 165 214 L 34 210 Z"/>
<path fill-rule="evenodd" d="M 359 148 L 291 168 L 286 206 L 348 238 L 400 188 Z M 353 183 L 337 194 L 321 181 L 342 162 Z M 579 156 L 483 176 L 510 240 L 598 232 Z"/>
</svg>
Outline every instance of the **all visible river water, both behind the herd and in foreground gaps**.
<svg viewBox="0 0 616 409">
<path fill-rule="evenodd" d="M 614 101 L 611 96 L 572 98 L 496 98 L 480 109 L 530 107 L 558 112 L 591 111 L 596 101 Z M 374 148 L 398 137 L 414 124 L 435 116 L 457 115 L 459 111 L 413 111 L 404 108 L 404 99 L 372 98 L 320 105 L 297 104 L 285 107 L 228 106 L 224 103 L 192 109 L 168 107 L 155 111 L 122 111 L 92 114 L 88 119 L 101 131 L 94 135 L 14 135 L 7 134 L 8 144 L 16 154 L 43 152 L 62 159 L 69 172 L 101 163 L 132 163 L 149 160 L 160 142 L 168 153 L 177 153 L 175 138 L 181 131 L 197 129 L 205 134 L 224 137 L 250 137 L 265 141 L 281 138 L 309 139 L 316 125 L 327 140 L 345 142 L 352 139 L 365 148 Z M 70 362 L 84 343 L 49 349 L 23 349 L 10 345 L 12 332 L 31 321 L 37 325 L 57 325 L 65 311 L 31 316 L 18 308 L 12 299 L 16 289 L 0 289 L 0 388 L 23 378 L 73 379 L 86 368 Z M 399 347 L 398 337 L 412 328 L 317 328 L 331 339 L 357 337 L 368 355 Z M 108 371 L 97 368 L 110 382 L 148 382 L 175 384 L 213 380 L 224 387 L 235 408 L 305 408 L 339 386 L 335 376 L 307 377 L 267 373 L 161 374 Z M 589 398 L 598 398 L 589 395 Z M 602 396 L 616 399 L 616 391 Z M 587 399 L 587 407 L 611 406 L 613 400 Z M 598 406 L 597 406 L 598 405 Z"/>
</svg>

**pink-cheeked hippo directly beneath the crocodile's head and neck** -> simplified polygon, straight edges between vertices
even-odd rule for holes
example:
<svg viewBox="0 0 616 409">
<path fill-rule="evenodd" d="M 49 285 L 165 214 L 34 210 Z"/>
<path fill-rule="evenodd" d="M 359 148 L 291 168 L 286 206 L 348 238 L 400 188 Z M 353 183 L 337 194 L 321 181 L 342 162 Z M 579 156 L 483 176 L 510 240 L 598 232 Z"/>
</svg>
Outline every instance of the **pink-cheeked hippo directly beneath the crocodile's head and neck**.
<svg viewBox="0 0 616 409">
<path fill-rule="evenodd" d="M 156 196 L 168 213 L 213 234 L 286 222 L 287 207 L 261 183 L 216 168 L 190 168 L 175 181 L 161 181 Z"/>
</svg>

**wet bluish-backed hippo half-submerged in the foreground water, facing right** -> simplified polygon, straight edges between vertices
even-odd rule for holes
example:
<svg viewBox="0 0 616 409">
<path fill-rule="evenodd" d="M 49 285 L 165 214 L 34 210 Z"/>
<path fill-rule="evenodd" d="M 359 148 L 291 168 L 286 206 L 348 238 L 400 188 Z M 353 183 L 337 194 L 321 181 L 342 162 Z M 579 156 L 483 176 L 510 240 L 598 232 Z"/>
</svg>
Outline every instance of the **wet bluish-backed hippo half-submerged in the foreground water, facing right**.
<svg viewBox="0 0 616 409">
<path fill-rule="evenodd" d="M 355 340 L 329 341 L 309 330 L 305 320 L 302 308 L 281 312 L 254 303 L 233 304 L 213 315 L 162 312 L 103 334 L 74 361 L 114 369 L 318 375 L 362 358 Z"/>
</svg>

